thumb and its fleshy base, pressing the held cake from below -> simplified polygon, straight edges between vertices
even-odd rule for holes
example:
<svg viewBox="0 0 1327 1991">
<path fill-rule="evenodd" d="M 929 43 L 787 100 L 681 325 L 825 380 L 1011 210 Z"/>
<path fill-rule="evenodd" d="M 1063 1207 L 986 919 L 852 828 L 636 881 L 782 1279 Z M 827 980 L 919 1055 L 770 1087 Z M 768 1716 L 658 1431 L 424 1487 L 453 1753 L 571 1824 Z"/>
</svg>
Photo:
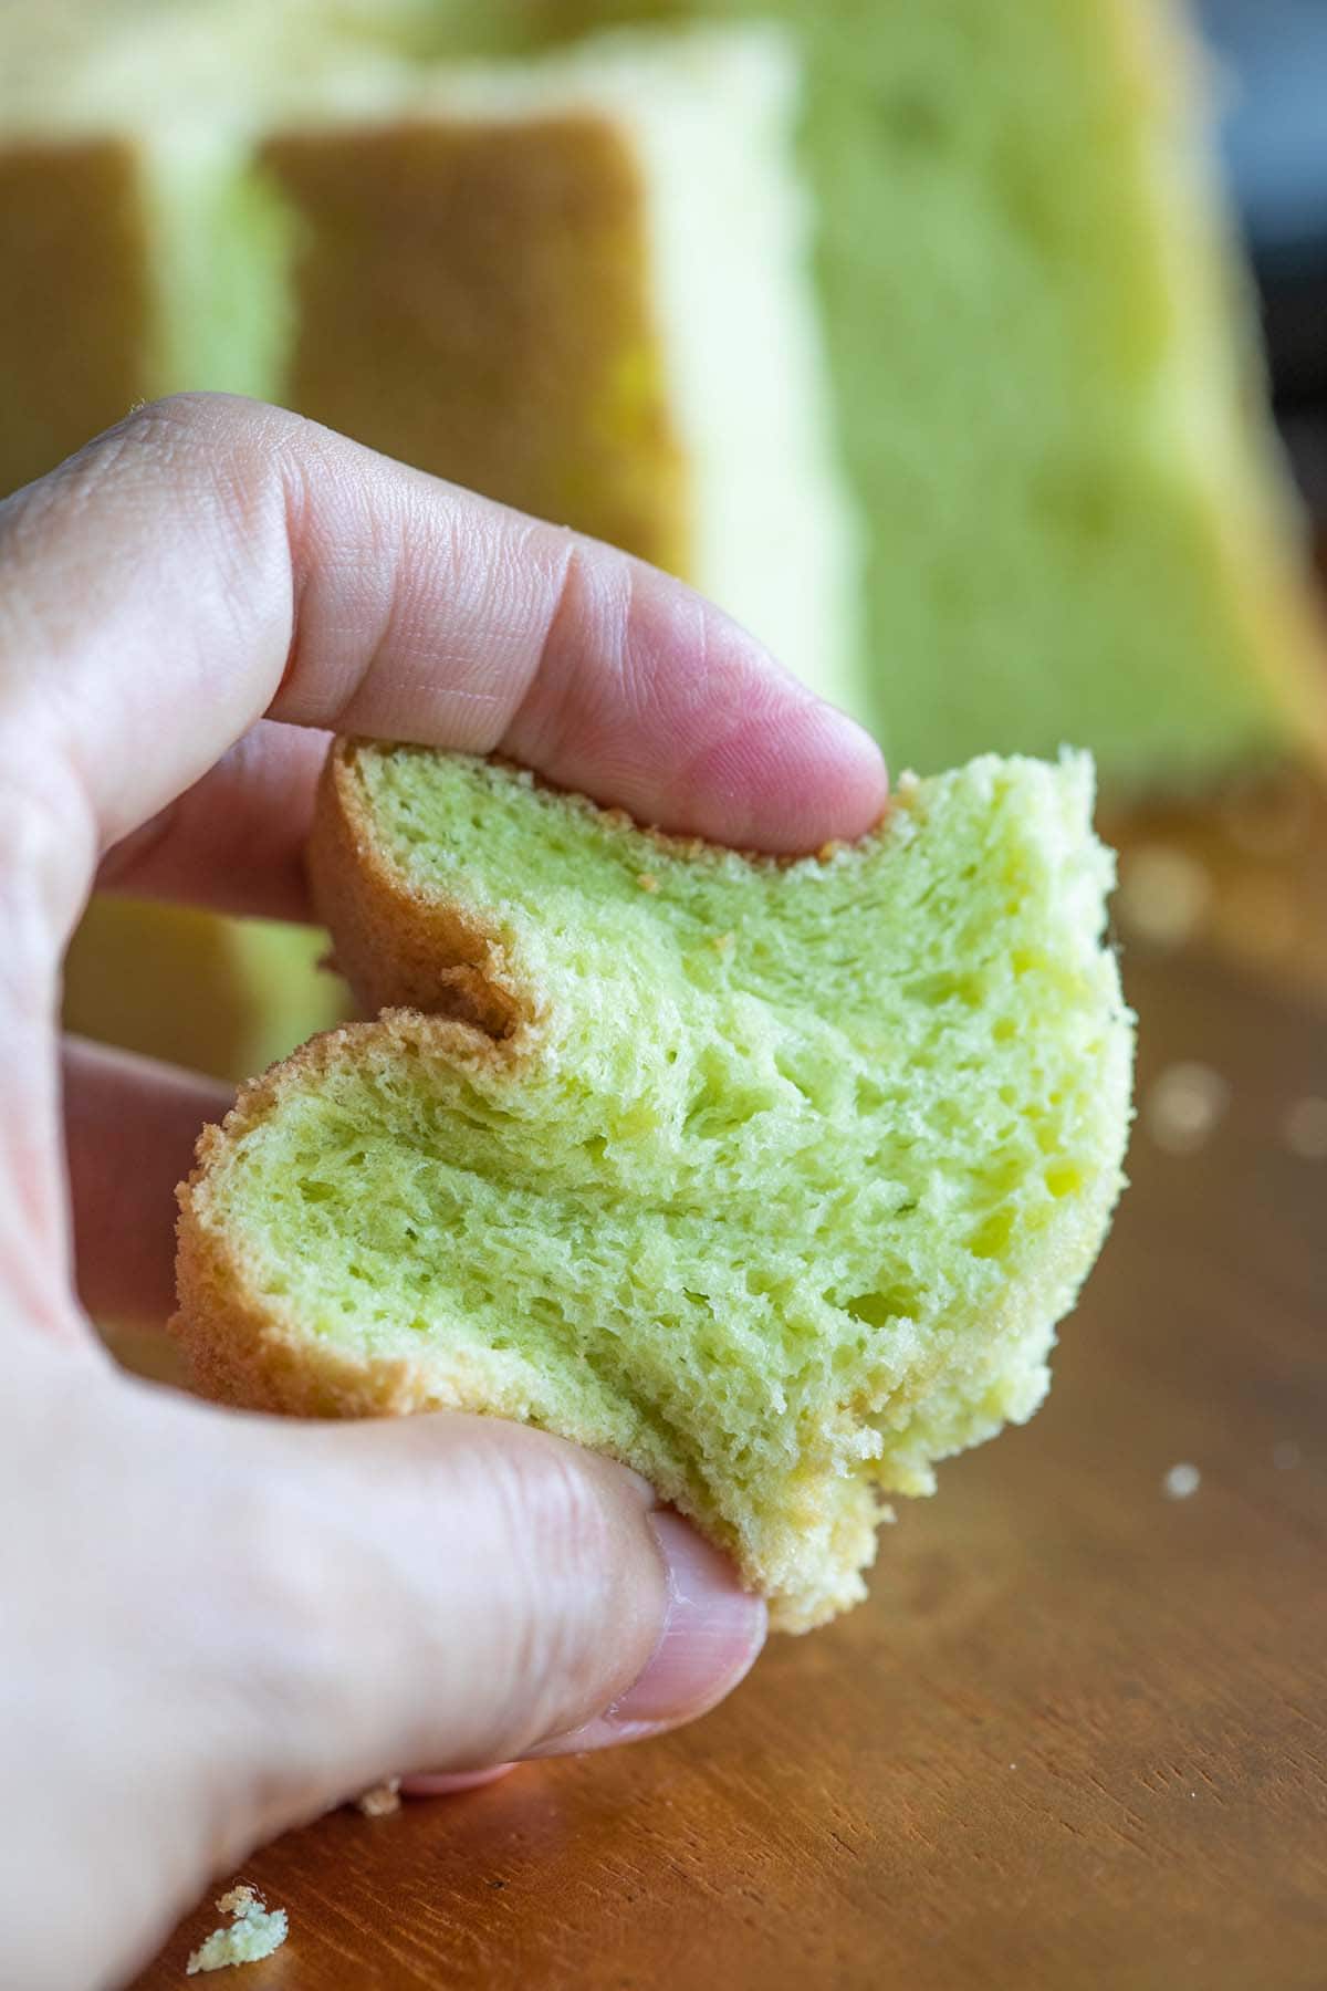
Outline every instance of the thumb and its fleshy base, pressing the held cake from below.
<svg viewBox="0 0 1327 1991">
<path fill-rule="evenodd" d="M 36 1334 L 0 1511 L 6 1985 L 127 1973 L 211 1876 L 384 1776 L 688 1720 L 764 1635 L 724 1559 L 575 1445 L 227 1414 Z"/>
</svg>

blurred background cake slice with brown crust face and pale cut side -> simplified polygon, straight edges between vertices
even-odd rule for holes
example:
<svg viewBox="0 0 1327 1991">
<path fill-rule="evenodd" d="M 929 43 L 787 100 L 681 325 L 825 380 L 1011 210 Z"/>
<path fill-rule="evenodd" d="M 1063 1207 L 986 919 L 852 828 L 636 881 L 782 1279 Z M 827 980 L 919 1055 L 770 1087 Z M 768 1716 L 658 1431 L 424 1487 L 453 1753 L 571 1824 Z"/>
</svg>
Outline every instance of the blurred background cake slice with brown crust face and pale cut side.
<svg viewBox="0 0 1327 1991">
<path fill-rule="evenodd" d="M 275 398 L 680 573 L 852 697 L 836 470 L 776 30 L 623 34 L 310 111 L 259 169 L 292 217 Z"/>
</svg>

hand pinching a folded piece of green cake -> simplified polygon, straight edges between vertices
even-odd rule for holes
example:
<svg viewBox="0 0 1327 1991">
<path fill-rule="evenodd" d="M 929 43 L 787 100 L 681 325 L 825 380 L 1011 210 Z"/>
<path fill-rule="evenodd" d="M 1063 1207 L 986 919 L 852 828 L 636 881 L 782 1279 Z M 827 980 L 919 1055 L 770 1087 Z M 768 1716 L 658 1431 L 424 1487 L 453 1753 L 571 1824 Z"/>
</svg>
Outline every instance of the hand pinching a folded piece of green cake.
<svg viewBox="0 0 1327 1991">
<path fill-rule="evenodd" d="M 169 1302 L 171 1187 L 225 1099 L 72 1049 L 94 878 L 308 916 L 314 729 L 501 749 L 668 828 L 867 828 L 850 721 L 688 589 L 221 398 L 0 506 L 4 1969 L 117 1981 L 261 1840 L 400 1770 L 690 1720 L 764 1609 L 633 1473 L 481 1418 L 296 1426 L 115 1372 L 70 1280 Z M 72 1209 L 70 1209 L 72 1205 Z"/>
</svg>

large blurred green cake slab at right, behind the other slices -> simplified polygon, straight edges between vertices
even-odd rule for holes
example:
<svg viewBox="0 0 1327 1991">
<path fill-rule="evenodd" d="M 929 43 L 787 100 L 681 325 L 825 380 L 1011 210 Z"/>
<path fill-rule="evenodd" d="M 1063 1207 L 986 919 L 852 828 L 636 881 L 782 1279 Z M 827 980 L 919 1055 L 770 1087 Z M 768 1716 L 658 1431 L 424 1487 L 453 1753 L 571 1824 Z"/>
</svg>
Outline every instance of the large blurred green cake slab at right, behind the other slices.
<svg viewBox="0 0 1327 1991">
<path fill-rule="evenodd" d="M 842 436 L 852 699 L 897 765 L 1090 747 L 1192 786 L 1327 755 L 1327 643 L 1178 0 L 477 0 L 523 46 L 794 26 Z"/>
</svg>

